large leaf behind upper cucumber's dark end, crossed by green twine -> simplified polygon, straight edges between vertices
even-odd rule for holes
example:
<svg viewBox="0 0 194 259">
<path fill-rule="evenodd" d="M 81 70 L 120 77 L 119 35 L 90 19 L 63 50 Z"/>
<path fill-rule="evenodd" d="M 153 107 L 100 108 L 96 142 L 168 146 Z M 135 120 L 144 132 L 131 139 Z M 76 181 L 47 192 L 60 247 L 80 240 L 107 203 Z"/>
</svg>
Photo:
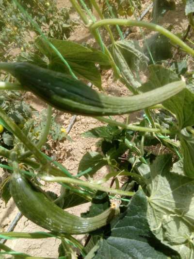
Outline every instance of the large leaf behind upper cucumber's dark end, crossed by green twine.
<svg viewBox="0 0 194 259">
<path fill-rule="evenodd" d="M 49 41 L 62 54 L 77 76 L 87 79 L 97 87 L 101 87 L 100 72 L 95 63 L 105 66 L 110 65 L 106 54 L 68 40 L 49 39 Z M 49 69 L 69 73 L 63 61 L 46 41 L 38 37 L 35 44 L 49 58 Z"/>
</svg>

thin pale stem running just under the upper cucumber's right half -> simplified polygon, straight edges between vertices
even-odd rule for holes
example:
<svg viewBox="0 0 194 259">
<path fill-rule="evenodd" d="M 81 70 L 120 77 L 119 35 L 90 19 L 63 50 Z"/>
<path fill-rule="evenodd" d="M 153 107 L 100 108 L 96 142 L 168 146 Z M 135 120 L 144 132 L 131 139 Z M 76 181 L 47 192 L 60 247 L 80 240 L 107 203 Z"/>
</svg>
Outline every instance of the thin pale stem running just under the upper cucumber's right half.
<svg viewBox="0 0 194 259">
<path fill-rule="evenodd" d="M 167 129 L 159 129 L 159 128 L 146 128 L 146 127 L 141 127 L 141 126 L 136 126 L 136 125 L 132 125 L 132 124 L 123 124 L 121 122 L 118 121 L 113 121 L 111 119 L 108 118 L 104 118 L 104 117 L 94 117 L 95 119 L 97 119 L 98 121 L 102 121 L 102 122 L 106 122 L 115 126 L 119 126 L 121 128 L 124 129 L 129 129 L 129 130 L 133 130 L 133 131 L 142 131 L 142 132 L 158 132 L 158 133 L 166 133 L 166 134 L 170 134 L 172 133 L 170 130 Z"/>
</svg>

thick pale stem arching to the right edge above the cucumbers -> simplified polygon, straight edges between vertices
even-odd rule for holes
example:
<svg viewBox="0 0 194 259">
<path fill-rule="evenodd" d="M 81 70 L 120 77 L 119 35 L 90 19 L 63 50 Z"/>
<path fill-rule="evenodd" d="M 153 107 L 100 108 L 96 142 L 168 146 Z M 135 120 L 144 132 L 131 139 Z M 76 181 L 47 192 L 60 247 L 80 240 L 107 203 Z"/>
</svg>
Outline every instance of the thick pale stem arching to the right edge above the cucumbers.
<svg viewBox="0 0 194 259">
<path fill-rule="evenodd" d="M 190 48 L 186 43 L 184 43 L 180 38 L 178 38 L 178 36 L 174 35 L 170 31 L 163 28 L 162 26 L 154 23 L 129 20 L 129 19 L 104 19 L 104 20 L 95 22 L 93 25 L 90 26 L 90 29 L 93 31 L 101 26 L 116 25 L 116 24 L 123 25 L 123 26 L 138 26 L 138 27 L 147 28 L 151 31 L 159 32 L 162 35 L 165 35 L 166 37 L 170 38 L 175 44 L 180 46 L 185 52 L 188 52 L 194 56 L 194 50 Z"/>
</svg>

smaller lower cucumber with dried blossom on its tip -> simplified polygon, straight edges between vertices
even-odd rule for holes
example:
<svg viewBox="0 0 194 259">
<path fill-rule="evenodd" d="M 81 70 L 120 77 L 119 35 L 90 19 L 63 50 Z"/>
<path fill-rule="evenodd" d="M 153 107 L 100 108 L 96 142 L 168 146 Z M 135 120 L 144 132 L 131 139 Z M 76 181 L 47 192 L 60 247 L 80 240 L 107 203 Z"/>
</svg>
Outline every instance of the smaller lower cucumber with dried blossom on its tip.
<svg viewBox="0 0 194 259">
<path fill-rule="evenodd" d="M 108 224 L 118 208 L 113 204 L 101 214 L 91 218 L 80 218 L 58 207 L 20 173 L 13 173 L 10 191 L 21 213 L 29 220 L 52 232 L 84 234 Z"/>
</svg>

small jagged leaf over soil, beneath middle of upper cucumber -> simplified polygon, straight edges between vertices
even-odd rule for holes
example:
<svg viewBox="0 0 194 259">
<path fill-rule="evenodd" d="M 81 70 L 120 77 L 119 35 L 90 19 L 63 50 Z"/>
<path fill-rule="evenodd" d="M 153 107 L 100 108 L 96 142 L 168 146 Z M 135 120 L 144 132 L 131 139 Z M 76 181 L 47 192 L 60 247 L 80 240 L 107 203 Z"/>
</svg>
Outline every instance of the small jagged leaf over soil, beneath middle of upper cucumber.
<svg viewBox="0 0 194 259">
<path fill-rule="evenodd" d="M 121 131 L 117 126 L 107 125 L 88 130 L 82 133 L 81 136 L 86 138 L 104 138 L 106 141 L 112 142 L 113 138 L 118 136 Z"/>
</svg>

